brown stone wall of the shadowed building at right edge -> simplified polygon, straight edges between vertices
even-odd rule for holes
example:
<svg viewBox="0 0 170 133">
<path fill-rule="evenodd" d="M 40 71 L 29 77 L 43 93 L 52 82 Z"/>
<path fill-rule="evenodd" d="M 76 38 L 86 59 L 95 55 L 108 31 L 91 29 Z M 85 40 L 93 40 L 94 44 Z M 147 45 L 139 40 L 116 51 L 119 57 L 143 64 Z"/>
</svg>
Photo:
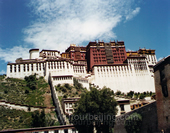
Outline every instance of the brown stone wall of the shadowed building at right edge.
<svg viewBox="0 0 170 133">
<path fill-rule="evenodd" d="M 168 97 L 164 97 L 161 86 L 160 70 L 155 72 L 155 89 L 158 112 L 158 129 L 170 130 L 170 64 L 164 66 Z"/>
</svg>

